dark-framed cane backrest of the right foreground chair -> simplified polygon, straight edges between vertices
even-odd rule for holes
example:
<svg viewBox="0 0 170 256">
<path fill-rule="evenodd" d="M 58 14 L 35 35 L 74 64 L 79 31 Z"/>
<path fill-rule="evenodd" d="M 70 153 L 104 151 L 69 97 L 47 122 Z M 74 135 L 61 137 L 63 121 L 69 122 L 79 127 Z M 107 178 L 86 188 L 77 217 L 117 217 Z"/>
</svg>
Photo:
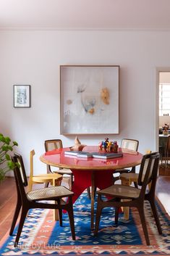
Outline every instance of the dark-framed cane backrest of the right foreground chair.
<svg viewBox="0 0 170 256">
<path fill-rule="evenodd" d="M 137 180 L 137 185 L 142 186 L 141 193 L 145 195 L 146 186 L 151 182 L 151 189 L 155 189 L 156 180 L 158 175 L 160 154 L 153 152 L 145 154 L 140 165 L 140 173 Z"/>
</svg>

